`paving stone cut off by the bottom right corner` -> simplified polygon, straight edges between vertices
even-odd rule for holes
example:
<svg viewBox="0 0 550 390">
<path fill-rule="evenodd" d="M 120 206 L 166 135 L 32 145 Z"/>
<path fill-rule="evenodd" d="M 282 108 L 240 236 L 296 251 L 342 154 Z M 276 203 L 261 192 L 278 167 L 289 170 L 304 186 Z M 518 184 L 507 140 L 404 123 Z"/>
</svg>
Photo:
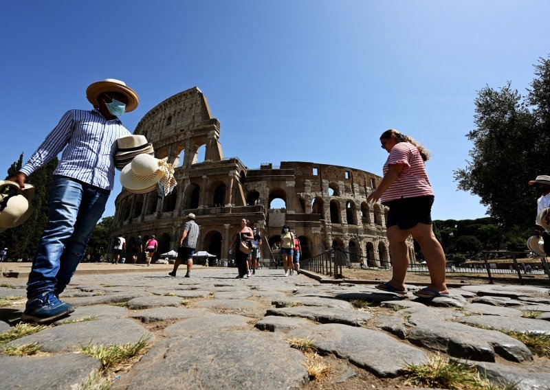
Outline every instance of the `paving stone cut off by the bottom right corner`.
<svg viewBox="0 0 550 390">
<path fill-rule="evenodd" d="M 479 374 L 485 377 L 496 387 L 509 385 L 517 390 L 542 390 L 548 389 L 550 372 L 547 368 L 535 372 L 525 367 L 510 367 L 498 363 L 473 362 L 461 360 L 461 363 L 477 367 Z"/>
</svg>

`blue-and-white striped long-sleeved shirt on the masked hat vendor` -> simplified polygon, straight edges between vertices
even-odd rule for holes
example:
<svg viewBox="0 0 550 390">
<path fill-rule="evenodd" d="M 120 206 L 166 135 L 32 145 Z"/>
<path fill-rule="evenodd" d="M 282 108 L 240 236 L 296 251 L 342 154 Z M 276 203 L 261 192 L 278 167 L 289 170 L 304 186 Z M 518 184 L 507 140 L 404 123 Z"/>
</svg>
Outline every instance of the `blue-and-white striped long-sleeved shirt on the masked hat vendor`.
<svg viewBox="0 0 550 390">
<path fill-rule="evenodd" d="M 95 108 L 69 110 L 20 172 L 32 174 L 65 148 L 54 174 L 113 190 L 116 139 L 126 135 L 118 118 L 105 119 Z"/>
</svg>

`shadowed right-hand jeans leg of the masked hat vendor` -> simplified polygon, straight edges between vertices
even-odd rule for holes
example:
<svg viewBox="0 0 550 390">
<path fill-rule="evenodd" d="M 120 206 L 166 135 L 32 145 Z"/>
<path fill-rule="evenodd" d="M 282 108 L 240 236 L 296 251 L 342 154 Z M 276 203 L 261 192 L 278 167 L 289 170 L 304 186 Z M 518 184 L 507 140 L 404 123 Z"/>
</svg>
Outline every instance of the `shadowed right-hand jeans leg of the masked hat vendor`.
<svg viewBox="0 0 550 390">
<path fill-rule="evenodd" d="M 84 186 L 83 199 L 78 210 L 74 233 L 65 244 L 65 251 L 61 256 L 61 268 L 56 277 L 56 295 L 65 290 L 76 271 L 76 267 L 83 259 L 91 233 L 94 232 L 98 220 L 105 211 L 110 193 L 108 190 L 102 190 L 91 185 Z M 117 256 L 117 262 L 119 259 L 120 255 Z"/>
</svg>

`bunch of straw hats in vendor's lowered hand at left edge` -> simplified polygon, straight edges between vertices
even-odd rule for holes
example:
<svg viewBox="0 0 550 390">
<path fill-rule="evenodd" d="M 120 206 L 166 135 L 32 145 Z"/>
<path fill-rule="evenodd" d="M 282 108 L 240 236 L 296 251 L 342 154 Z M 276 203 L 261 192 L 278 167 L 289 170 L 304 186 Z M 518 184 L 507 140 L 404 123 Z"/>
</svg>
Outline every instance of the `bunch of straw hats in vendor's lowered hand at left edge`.
<svg viewBox="0 0 550 390">
<path fill-rule="evenodd" d="M 21 225 L 34 211 L 30 201 L 34 197 L 34 187 L 25 184 L 21 190 L 13 181 L 0 181 L 0 233 Z"/>
</svg>

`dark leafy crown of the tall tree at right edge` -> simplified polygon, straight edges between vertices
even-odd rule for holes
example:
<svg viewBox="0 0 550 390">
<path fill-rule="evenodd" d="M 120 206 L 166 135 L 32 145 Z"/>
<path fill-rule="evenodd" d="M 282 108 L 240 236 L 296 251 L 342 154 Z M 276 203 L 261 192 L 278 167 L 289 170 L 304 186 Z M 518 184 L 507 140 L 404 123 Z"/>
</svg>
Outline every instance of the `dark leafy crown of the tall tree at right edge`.
<svg viewBox="0 0 550 390">
<path fill-rule="evenodd" d="M 533 225 L 537 195 L 528 182 L 550 174 L 550 56 L 539 59 L 535 76 L 525 98 L 511 82 L 478 91 L 476 128 L 467 134 L 474 147 L 466 168 L 454 171 L 459 189 L 480 196 L 507 228 Z"/>
</svg>

